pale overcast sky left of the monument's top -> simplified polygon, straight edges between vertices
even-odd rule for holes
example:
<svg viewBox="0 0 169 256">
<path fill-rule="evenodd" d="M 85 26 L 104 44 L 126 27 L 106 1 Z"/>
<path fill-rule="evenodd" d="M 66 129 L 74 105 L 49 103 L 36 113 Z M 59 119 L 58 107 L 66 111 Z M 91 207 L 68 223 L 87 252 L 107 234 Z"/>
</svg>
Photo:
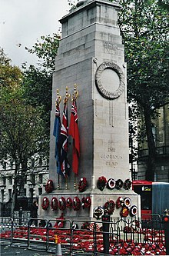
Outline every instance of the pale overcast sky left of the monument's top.
<svg viewBox="0 0 169 256">
<path fill-rule="evenodd" d="M 0 0 L 0 47 L 13 65 L 34 64 L 31 48 L 41 35 L 57 33 L 59 19 L 68 14 L 68 0 Z M 21 44 L 21 46 L 19 46 Z"/>
</svg>

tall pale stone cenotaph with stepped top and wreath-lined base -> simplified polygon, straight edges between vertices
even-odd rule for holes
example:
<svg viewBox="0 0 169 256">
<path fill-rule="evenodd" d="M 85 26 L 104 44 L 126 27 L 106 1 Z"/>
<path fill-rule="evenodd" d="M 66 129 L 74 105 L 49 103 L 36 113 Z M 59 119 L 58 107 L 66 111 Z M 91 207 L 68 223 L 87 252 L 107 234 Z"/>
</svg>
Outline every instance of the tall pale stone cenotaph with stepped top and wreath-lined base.
<svg viewBox="0 0 169 256">
<path fill-rule="evenodd" d="M 53 75 L 49 161 L 49 179 L 54 189 L 40 198 L 41 204 L 43 197 L 49 201 L 46 211 L 39 209 L 45 218 L 63 214 L 71 220 L 94 220 L 101 218 L 101 209 L 107 209 L 111 218 L 140 217 L 140 198 L 131 189 L 129 172 L 127 67 L 118 28 L 119 10 L 118 4 L 108 0 L 86 0 L 78 2 L 60 20 L 62 34 Z M 61 96 L 61 121 L 63 100 L 67 98 L 70 121 L 71 96 L 78 96 L 78 173 L 71 168 L 73 140 L 69 138 L 70 168 L 66 178 L 58 175 L 55 158 L 57 90 Z M 79 186 L 83 189 L 79 190 Z M 58 205 L 55 211 L 50 208 L 52 198 Z"/>
</svg>

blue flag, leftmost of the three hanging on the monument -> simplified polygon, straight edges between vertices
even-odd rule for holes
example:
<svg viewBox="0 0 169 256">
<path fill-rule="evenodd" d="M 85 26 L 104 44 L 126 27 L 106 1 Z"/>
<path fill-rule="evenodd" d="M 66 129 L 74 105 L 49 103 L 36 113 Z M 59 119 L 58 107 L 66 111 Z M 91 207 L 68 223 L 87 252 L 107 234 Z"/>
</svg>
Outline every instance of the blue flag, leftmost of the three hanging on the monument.
<svg viewBox="0 0 169 256">
<path fill-rule="evenodd" d="M 59 105 L 56 105 L 54 131 L 53 131 L 53 135 L 55 136 L 55 158 L 56 158 L 57 173 L 58 175 L 63 175 L 61 171 L 61 164 L 60 164 L 61 149 L 58 145 L 60 134 L 61 134 L 60 109 L 59 109 Z"/>
</svg>

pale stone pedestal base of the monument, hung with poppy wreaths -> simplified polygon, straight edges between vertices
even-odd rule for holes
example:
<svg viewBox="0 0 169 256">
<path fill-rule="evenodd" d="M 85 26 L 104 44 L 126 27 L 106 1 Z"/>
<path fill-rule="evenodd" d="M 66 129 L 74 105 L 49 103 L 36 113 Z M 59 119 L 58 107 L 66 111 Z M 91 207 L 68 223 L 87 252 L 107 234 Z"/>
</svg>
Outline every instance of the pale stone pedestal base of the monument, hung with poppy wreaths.
<svg viewBox="0 0 169 256">
<path fill-rule="evenodd" d="M 46 210 L 41 208 L 43 198 L 48 198 L 49 206 Z M 68 198 L 71 198 L 71 201 L 74 200 L 75 197 L 78 197 L 81 201 L 81 207 L 76 211 L 73 207 L 72 208 L 65 208 L 65 210 L 59 209 L 56 210 L 51 209 L 51 200 L 52 198 L 57 198 L 58 202 L 61 201 L 61 198 L 65 198 L 67 201 Z M 91 198 L 91 206 L 90 208 L 84 208 L 82 204 L 82 199 Z M 118 198 L 121 198 L 122 205 L 121 207 L 116 207 L 116 202 Z M 71 220 L 71 221 L 97 221 L 97 218 L 94 218 L 94 208 L 104 208 L 104 204 L 108 201 L 114 201 L 114 212 L 111 214 L 111 220 L 121 218 L 121 210 L 125 206 L 123 201 L 129 198 L 131 201 L 128 207 L 128 216 L 127 218 L 131 218 L 130 209 L 132 206 L 136 205 L 138 208 L 138 212 L 136 217 L 141 218 L 141 207 L 140 207 L 140 196 L 132 190 L 108 190 L 108 188 L 104 188 L 104 191 L 98 190 L 98 188 L 89 191 L 86 190 L 85 192 L 79 193 L 79 191 L 69 192 L 66 190 L 55 190 L 49 194 L 43 194 L 39 198 L 39 218 L 47 218 L 47 219 L 55 219 L 59 218 L 63 213 L 64 218 Z"/>
</svg>

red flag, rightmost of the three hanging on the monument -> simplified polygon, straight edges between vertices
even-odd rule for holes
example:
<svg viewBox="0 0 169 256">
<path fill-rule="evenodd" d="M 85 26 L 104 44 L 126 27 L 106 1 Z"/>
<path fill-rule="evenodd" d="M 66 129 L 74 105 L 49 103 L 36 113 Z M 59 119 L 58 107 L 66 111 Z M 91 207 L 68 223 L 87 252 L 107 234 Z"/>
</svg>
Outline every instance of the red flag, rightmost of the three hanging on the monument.
<svg viewBox="0 0 169 256">
<path fill-rule="evenodd" d="M 78 112 L 77 112 L 76 101 L 72 102 L 71 121 L 70 121 L 68 133 L 73 138 L 72 170 L 75 172 L 75 175 L 78 175 L 78 159 L 80 155 L 80 141 L 79 141 Z"/>
</svg>

